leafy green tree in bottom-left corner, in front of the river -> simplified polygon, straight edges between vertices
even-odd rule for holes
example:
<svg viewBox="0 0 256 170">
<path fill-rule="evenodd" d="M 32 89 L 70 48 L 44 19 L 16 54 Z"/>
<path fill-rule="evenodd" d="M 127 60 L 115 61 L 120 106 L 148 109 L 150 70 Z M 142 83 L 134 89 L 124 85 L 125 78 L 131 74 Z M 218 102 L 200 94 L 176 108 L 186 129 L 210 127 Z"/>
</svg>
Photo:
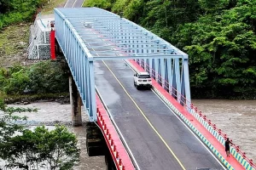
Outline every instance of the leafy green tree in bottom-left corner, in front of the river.
<svg viewBox="0 0 256 170">
<path fill-rule="evenodd" d="M 37 110 L 7 107 L 3 99 L 0 99 L 0 111 L 3 111 L 0 117 L 0 159 L 5 161 L 5 167 L 67 170 L 79 161 L 78 141 L 67 127 L 56 126 L 52 131 L 44 126 L 27 129 L 19 124 L 26 117 L 13 116 L 12 113 Z"/>
</svg>

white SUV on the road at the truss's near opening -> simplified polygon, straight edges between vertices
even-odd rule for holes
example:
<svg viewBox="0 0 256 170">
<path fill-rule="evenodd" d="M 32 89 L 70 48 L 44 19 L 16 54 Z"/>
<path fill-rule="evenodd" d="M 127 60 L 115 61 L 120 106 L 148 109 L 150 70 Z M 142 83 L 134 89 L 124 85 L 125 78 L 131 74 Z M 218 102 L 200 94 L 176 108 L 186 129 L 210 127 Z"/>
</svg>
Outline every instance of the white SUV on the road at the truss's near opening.
<svg viewBox="0 0 256 170">
<path fill-rule="evenodd" d="M 152 80 L 148 72 L 138 72 L 133 77 L 134 86 L 152 88 Z"/>
</svg>

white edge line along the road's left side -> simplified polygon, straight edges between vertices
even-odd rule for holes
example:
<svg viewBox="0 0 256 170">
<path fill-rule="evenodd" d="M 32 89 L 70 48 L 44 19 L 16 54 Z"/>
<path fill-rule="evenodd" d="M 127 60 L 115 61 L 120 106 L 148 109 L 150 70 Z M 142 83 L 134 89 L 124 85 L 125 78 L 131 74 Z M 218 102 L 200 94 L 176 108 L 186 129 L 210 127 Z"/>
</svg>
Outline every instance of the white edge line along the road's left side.
<svg viewBox="0 0 256 170">
<path fill-rule="evenodd" d="M 95 86 L 95 88 L 96 88 L 96 86 Z M 99 90 L 98 90 L 97 88 L 96 88 L 96 91 L 99 92 Z M 123 134 L 121 133 L 119 127 L 118 127 L 117 124 L 116 124 L 116 122 L 114 122 L 113 116 L 112 116 L 111 112 L 108 110 L 108 107 L 107 107 L 107 105 L 106 105 L 104 99 L 102 98 L 102 95 L 101 95 L 100 93 L 98 93 L 98 95 L 99 95 L 100 99 L 102 99 L 102 104 L 105 106 L 105 109 L 108 111 L 108 115 L 110 116 L 110 119 L 111 119 L 111 121 L 113 122 L 113 126 L 117 129 L 117 131 L 118 131 L 118 133 L 119 133 L 119 135 L 120 135 L 121 140 L 124 142 L 125 147 L 126 147 L 126 149 L 128 150 L 129 155 L 131 156 L 131 159 L 132 159 L 133 162 L 135 163 L 136 169 L 137 169 L 137 170 L 141 170 L 140 167 L 138 166 L 137 161 L 136 161 L 135 157 L 133 156 L 133 154 L 132 154 L 132 152 L 131 152 L 131 149 L 130 149 L 129 145 L 127 144 L 127 142 L 126 142 L 126 140 L 125 140 Z"/>
</svg>

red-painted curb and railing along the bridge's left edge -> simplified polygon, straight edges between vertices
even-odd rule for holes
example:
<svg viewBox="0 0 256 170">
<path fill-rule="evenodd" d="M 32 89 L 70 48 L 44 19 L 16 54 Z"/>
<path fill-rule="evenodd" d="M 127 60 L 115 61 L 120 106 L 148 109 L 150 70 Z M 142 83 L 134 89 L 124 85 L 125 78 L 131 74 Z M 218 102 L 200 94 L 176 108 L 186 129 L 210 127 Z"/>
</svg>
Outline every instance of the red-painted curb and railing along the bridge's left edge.
<svg viewBox="0 0 256 170">
<path fill-rule="evenodd" d="M 125 146 L 119 138 L 113 122 L 111 122 L 108 112 L 105 110 L 101 99 L 96 95 L 97 123 L 102 128 L 104 139 L 108 144 L 108 150 L 113 157 L 113 161 L 118 170 L 135 170 L 131 158 L 125 150 Z"/>
</svg>

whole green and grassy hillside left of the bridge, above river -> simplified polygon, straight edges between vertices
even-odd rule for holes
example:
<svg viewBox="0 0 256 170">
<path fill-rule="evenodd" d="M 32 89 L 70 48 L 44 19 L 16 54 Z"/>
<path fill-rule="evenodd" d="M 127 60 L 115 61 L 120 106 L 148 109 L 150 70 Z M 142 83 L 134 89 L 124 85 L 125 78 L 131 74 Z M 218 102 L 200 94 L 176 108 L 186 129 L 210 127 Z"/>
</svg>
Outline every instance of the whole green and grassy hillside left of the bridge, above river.
<svg viewBox="0 0 256 170">
<path fill-rule="evenodd" d="M 28 60 L 26 54 L 29 26 L 36 14 L 53 13 L 54 7 L 64 3 L 65 0 L 0 0 L 0 98 L 15 101 L 28 94 L 34 94 L 29 98 L 35 99 L 52 98 L 55 93 L 56 98 L 66 95 L 68 68 L 61 62 Z"/>
</svg>

